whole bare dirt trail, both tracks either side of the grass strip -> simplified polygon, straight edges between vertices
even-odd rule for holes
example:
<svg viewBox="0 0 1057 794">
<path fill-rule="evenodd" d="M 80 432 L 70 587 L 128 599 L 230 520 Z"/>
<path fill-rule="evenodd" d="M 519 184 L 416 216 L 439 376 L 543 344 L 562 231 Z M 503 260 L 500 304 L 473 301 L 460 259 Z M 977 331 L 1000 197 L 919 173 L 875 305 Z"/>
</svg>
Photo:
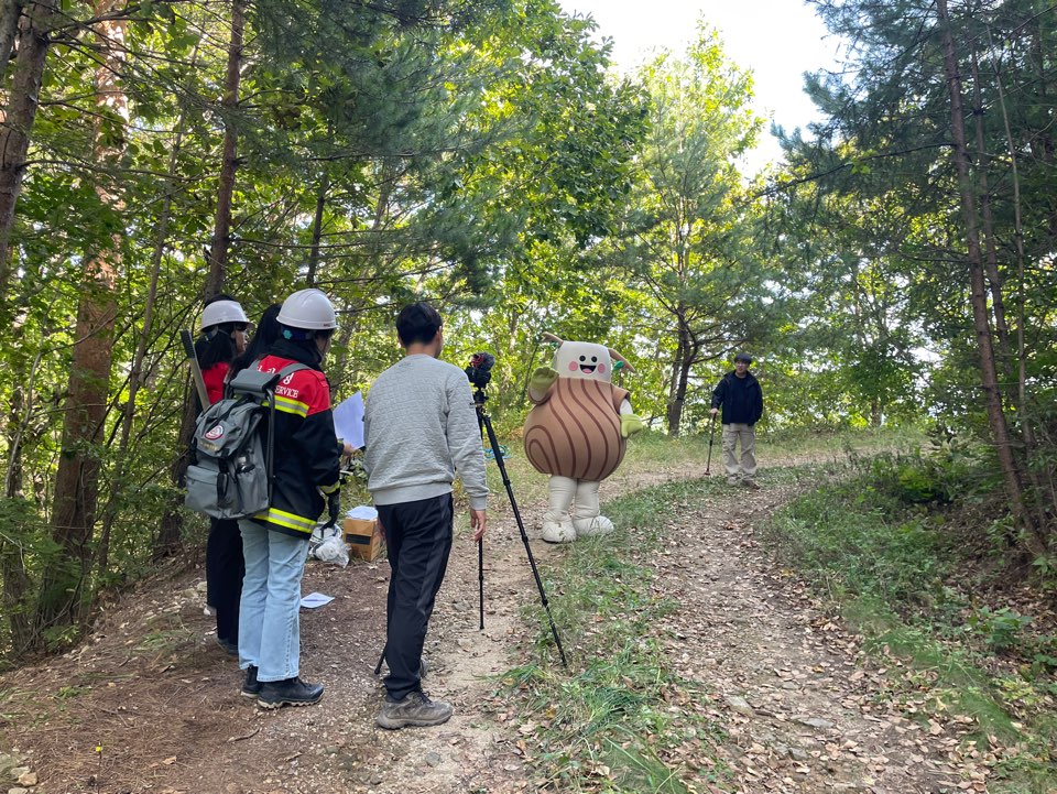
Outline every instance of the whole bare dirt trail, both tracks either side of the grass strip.
<svg viewBox="0 0 1057 794">
<path fill-rule="evenodd" d="M 686 467 L 639 482 L 623 472 L 602 496 L 702 474 Z M 672 659 L 713 693 L 737 790 L 954 791 L 961 777 L 950 765 L 957 740 L 948 726 L 920 730 L 875 706 L 879 684 L 857 666 L 856 638 L 760 553 L 753 521 L 791 494 L 732 490 L 705 512 L 676 511 L 665 547 L 640 561 L 682 605 L 666 619 Z M 0 753 L 15 748 L 39 780 L 29 791 L 48 794 L 534 790 L 516 720 L 492 693 L 494 676 L 526 653 L 519 613 L 538 594 L 503 494 L 492 503 L 486 630 L 478 631 L 476 547 L 461 534 L 426 642 L 426 689 L 456 708 L 447 725 L 374 727 L 382 687 L 372 670 L 389 567 L 314 563 L 304 591 L 336 596 L 302 617 L 303 674 L 326 685 L 320 706 L 264 714 L 240 697 L 237 665 L 213 643 L 201 614 L 200 575 L 184 575 L 108 609 L 77 651 L 0 676 Z M 541 511 L 523 505 L 530 527 Z M 532 551 L 541 567 L 563 553 L 535 539 Z M 0 782 L 0 792 L 3 785 L 13 784 Z"/>
</svg>

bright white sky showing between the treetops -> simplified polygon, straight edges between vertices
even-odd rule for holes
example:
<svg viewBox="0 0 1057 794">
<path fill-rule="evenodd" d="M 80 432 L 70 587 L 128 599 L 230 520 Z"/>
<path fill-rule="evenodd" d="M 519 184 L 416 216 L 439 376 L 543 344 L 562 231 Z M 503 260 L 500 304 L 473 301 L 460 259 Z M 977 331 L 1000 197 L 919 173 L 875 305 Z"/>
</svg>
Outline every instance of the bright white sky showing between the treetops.
<svg viewBox="0 0 1057 794">
<path fill-rule="evenodd" d="M 704 19 L 718 28 L 727 55 L 755 79 L 756 111 L 793 130 L 819 119 L 803 74 L 836 68 L 838 42 L 802 0 L 558 0 L 566 13 L 590 15 L 597 35 L 613 40 L 613 58 L 630 70 L 657 48 L 682 54 Z M 777 160 L 767 130 L 748 161 L 750 172 Z"/>
</svg>

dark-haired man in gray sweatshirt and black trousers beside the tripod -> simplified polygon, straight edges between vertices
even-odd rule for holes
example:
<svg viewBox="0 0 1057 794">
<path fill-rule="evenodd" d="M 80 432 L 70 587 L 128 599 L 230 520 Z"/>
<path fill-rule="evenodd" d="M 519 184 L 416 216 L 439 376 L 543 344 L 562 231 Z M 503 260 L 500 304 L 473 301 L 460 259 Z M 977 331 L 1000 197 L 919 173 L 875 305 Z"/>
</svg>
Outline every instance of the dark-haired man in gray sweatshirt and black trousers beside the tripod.
<svg viewBox="0 0 1057 794">
<path fill-rule="evenodd" d="M 451 482 L 458 471 L 470 500 L 473 540 L 484 535 L 488 483 L 477 411 L 466 374 L 437 360 L 440 315 L 426 303 L 396 317 L 404 358 L 367 395 L 367 488 L 389 548 L 385 700 L 382 728 L 440 725 L 451 706 L 422 690 L 422 646 L 451 551 Z"/>
</svg>

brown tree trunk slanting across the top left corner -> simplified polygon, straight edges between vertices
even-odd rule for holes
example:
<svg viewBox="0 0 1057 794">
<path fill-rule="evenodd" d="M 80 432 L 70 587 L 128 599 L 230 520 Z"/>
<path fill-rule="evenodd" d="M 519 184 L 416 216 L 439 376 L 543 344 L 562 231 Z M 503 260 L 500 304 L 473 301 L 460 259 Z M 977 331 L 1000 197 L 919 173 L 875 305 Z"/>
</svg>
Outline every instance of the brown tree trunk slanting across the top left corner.
<svg viewBox="0 0 1057 794">
<path fill-rule="evenodd" d="M 31 3 L 20 23 L 19 54 L 14 62 L 11 91 L 0 128 L 0 328 L 10 322 L 8 282 L 11 279 L 11 235 L 14 208 L 25 175 L 25 154 L 36 119 L 48 34 L 55 23 L 55 11 L 45 3 Z"/>
</svg>

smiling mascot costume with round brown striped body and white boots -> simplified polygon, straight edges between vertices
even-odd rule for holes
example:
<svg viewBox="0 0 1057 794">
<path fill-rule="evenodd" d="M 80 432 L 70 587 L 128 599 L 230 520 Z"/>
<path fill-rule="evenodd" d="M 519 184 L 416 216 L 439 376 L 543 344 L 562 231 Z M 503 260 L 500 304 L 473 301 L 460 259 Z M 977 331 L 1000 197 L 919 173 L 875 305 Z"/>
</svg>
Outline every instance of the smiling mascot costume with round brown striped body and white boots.
<svg viewBox="0 0 1057 794">
<path fill-rule="evenodd" d="M 525 457 L 551 475 L 543 540 L 568 543 L 612 531 L 613 523 L 599 514 L 598 487 L 623 459 L 628 436 L 643 424 L 628 392 L 610 382 L 613 369 L 634 371 L 620 354 L 553 334 L 543 338 L 558 348 L 554 367 L 540 367 L 528 381 L 533 409 L 525 418 Z"/>
</svg>

